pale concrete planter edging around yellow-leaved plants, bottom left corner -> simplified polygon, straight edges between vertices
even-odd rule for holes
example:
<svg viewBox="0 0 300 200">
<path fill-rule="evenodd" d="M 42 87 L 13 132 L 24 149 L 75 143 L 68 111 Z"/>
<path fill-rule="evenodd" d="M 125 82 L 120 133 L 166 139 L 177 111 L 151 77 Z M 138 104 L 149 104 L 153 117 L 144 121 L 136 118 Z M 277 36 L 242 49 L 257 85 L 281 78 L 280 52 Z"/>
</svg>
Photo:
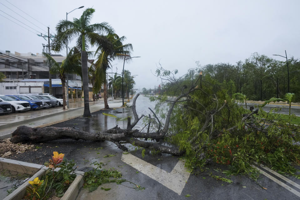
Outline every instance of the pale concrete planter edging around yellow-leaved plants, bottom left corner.
<svg viewBox="0 0 300 200">
<path fill-rule="evenodd" d="M 0 165 L 2 169 L 8 169 L 10 171 L 15 171 L 19 173 L 33 174 L 31 178 L 29 178 L 26 182 L 20 185 L 17 189 L 15 189 L 11 194 L 5 197 L 3 200 L 21 200 L 26 192 L 26 187 L 30 184 L 28 181 L 33 181 L 34 178 L 41 178 L 42 175 L 46 173 L 47 167 L 43 165 L 38 165 L 34 163 L 26 163 L 17 160 L 11 160 L 7 158 L 0 158 Z M 56 168 L 55 171 L 58 171 L 60 168 Z M 69 186 L 61 200 L 74 200 L 76 199 L 78 192 L 83 186 L 83 175 L 84 172 L 75 171 L 76 178 L 73 183 Z"/>
</svg>

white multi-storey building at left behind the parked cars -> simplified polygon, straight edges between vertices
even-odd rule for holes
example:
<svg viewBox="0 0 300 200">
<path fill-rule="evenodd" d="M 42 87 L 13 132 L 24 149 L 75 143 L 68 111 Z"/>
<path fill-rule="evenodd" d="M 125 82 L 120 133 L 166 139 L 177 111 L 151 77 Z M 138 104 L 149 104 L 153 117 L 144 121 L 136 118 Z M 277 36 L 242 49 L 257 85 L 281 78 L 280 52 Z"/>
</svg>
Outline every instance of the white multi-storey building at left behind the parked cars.
<svg viewBox="0 0 300 200">
<path fill-rule="evenodd" d="M 51 55 L 59 64 L 65 56 Z M 88 67 L 91 63 L 88 62 Z M 0 94 L 49 93 L 49 69 L 41 53 L 10 53 L 0 51 L 0 72 L 6 78 L 0 83 Z M 52 74 L 53 95 L 62 98 L 62 83 L 58 74 Z M 81 90 L 81 77 L 69 74 L 69 89 Z M 92 86 L 90 86 L 92 87 Z M 75 92 L 74 92 L 75 94 Z M 81 92 L 78 97 L 81 98 Z M 77 97 L 75 97 L 77 98 Z"/>
</svg>

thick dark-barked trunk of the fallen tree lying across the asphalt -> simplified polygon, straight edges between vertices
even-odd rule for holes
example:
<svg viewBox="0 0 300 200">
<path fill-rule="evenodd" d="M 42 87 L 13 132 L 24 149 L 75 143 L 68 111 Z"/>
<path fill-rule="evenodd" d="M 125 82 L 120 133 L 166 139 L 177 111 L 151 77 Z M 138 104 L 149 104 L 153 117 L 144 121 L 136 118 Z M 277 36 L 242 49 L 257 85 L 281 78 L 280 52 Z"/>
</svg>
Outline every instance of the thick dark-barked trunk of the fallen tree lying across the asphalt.
<svg viewBox="0 0 300 200">
<path fill-rule="evenodd" d="M 158 143 L 145 142 L 136 138 L 153 138 L 159 139 L 160 137 L 156 133 L 140 133 L 138 130 L 126 130 L 120 128 L 108 129 L 105 132 L 89 133 L 85 131 L 79 131 L 74 128 L 57 128 L 57 127 L 46 127 L 46 128 L 31 128 L 27 126 L 19 126 L 17 130 L 12 133 L 12 143 L 41 143 L 51 140 L 58 139 L 83 139 L 91 141 L 103 141 L 108 140 L 115 143 L 118 148 L 123 151 L 128 149 L 121 145 L 120 141 L 125 141 L 133 145 L 148 148 L 150 150 L 155 149 L 161 153 L 168 153 L 173 155 L 183 155 L 183 151 L 179 151 L 178 148 L 167 147 Z"/>
</svg>

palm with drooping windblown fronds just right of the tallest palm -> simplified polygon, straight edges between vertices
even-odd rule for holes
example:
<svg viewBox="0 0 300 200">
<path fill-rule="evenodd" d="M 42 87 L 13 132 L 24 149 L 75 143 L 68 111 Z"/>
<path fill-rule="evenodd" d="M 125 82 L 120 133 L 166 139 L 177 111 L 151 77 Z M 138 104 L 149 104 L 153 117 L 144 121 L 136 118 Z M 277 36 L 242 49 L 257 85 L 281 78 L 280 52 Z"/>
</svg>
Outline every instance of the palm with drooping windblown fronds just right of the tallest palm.
<svg viewBox="0 0 300 200">
<path fill-rule="evenodd" d="M 111 68 L 111 62 L 114 59 L 123 60 L 124 56 L 130 56 L 131 51 L 133 51 L 132 45 L 123 44 L 126 39 L 125 36 L 119 37 L 115 33 L 109 33 L 107 39 L 112 43 L 113 49 L 106 48 L 104 49 L 101 45 L 98 45 L 96 50 L 97 60 L 95 62 L 96 66 L 96 82 L 103 83 L 103 98 L 104 98 L 104 107 L 109 108 L 107 103 L 107 85 L 106 85 L 106 71 Z M 102 38 L 99 38 L 102 39 Z M 101 40 L 99 41 L 101 42 Z M 96 42 L 98 43 L 98 41 Z"/>
</svg>

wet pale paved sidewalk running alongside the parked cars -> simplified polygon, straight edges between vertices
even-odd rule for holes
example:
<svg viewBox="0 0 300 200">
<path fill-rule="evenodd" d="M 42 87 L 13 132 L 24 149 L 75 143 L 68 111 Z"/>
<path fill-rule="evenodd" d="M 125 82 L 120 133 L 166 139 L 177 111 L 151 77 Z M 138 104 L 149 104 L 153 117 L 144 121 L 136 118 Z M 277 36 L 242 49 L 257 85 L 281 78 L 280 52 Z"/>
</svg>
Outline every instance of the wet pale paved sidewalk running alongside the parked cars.
<svg viewBox="0 0 300 200">
<path fill-rule="evenodd" d="M 125 101 L 125 99 L 124 99 Z M 126 99 L 127 101 L 127 99 Z M 104 108 L 104 99 L 89 102 L 91 113 Z M 108 98 L 109 108 L 122 107 L 122 98 Z M 25 113 L 12 113 L 0 116 L 0 139 L 11 137 L 11 133 L 19 126 L 29 126 L 33 128 L 46 127 L 52 124 L 67 121 L 83 115 L 84 102 L 69 103 L 69 109 L 63 107 L 28 111 Z"/>
</svg>

